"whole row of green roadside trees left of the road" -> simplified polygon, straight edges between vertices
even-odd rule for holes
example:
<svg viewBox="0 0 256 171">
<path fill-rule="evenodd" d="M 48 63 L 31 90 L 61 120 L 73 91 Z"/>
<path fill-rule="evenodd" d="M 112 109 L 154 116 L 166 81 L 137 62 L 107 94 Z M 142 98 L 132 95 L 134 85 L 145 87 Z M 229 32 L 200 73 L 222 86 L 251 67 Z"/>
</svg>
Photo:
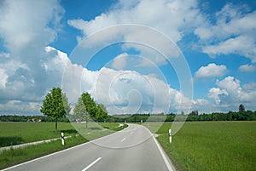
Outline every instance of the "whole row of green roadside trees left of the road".
<svg viewBox="0 0 256 171">
<path fill-rule="evenodd" d="M 86 128 L 90 120 L 105 122 L 108 117 L 106 107 L 96 104 L 89 93 L 81 94 L 74 106 L 73 115 L 70 114 L 71 109 L 67 95 L 62 92 L 61 88 L 52 88 L 46 94 L 40 111 L 55 120 L 55 131 L 57 131 L 58 120 L 63 117 L 69 117 L 71 121 L 86 122 Z"/>
</svg>

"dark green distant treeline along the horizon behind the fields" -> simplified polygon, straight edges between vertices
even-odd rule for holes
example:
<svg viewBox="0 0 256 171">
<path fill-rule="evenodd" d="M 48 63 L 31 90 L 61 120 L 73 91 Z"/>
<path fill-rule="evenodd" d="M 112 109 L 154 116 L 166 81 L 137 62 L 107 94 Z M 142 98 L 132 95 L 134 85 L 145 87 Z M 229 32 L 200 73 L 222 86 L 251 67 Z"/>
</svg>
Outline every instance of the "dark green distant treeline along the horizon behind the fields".
<svg viewBox="0 0 256 171">
<path fill-rule="evenodd" d="M 255 121 L 256 111 L 229 111 L 228 113 L 214 112 L 212 114 L 198 114 L 198 111 L 192 111 L 189 115 L 184 114 L 124 114 L 112 115 L 106 118 L 107 123 L 140 123 L 143 122 L 172 122 L 176 117 L 186 118 L 186 121 Z M 55 122 L 50 117 L 45 116 L 17 116 L 17 115 L 2 115 L 0 122 Z M 60 122 L 68 123 L 67 117 L 61 118 Z M 97 121 L 96 121 L 97 122 Z"/>
</svg>

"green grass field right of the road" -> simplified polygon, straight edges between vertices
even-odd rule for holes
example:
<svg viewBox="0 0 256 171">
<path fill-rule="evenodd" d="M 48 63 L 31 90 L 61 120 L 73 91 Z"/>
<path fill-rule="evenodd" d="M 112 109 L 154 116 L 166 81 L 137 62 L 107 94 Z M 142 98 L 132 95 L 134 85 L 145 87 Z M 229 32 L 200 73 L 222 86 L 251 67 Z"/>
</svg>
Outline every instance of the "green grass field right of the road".
<svg viewBox="0 0 256 171">
<path fill-rule="evenodd" d="M 177 170 L 256 169 L 256 122 L 184 123 L 170 144 L 171 126 L 164 123 L 156 133 Z"/>
</svg>

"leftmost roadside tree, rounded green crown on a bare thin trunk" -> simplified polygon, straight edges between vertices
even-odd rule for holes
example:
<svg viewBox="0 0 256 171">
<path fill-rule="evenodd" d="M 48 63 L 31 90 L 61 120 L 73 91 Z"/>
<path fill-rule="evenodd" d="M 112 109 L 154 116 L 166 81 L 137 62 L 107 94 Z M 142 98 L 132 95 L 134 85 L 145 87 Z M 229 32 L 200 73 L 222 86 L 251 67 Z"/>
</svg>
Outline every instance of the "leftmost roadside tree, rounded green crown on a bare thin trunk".
<svg viewBox="0 0 256 171">
<path fill-rule="evenodd" d="M 58 128 L 58 119 L 66 117 L 71 111 L 67 95 L 62 93 L 61 88 L 52 88 L 50 92 L 46 94 L 40 111 L 47 117 L 51 117 L 55 120 L 56 132 Z"/>
</svg>

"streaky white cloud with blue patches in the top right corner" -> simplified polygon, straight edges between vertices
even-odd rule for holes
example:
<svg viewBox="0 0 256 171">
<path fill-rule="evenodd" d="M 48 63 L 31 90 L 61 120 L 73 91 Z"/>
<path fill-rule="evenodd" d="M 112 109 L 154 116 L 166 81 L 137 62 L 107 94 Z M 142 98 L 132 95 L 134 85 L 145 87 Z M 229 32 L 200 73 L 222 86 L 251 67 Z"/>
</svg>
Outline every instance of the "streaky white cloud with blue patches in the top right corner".
<svg viewBox="0 0 256 171">
<path fill-rule="evenodd" d="M 200 37 L 202 51 L 211 56 L 219 54 L 239 54 L 256 62 L 256 11 L 248 12 L 242 6 L 227 3 L 216 13 L 216 23 L 210 20 L 195 29 Z"/>
</svg>

